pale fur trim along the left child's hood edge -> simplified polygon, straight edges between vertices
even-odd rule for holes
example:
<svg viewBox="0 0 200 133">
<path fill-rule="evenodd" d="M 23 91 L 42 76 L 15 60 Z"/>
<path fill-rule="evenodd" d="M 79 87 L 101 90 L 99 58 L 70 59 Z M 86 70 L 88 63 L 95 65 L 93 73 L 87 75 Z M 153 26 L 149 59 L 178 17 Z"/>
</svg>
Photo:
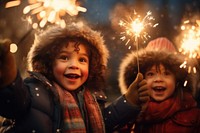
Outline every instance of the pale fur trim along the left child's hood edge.
<svg viewBox="0 0 200 133">
<path fill-rule="evenodd" d="M 104 44 L 104 39 L 100 32 L 92 30 L 87 25 L 83 24 L 83 22 L 78 22 L 66 25 L 65 28 L 56 25 L 54 27 L 50 27 L 41 34 L 36 35 L 34 44 L 28 53 L 28 69 L 35 69 L 33 62 L 37 61 L 36 58 L 45 52 L 48 45 L 54 45 L 53 43 L 55 40 L 58 40 L 58 38 L 70 37 L 79 37 L 85 39 L 91 45 L 96 47 L 100 55 L 99 58 L 101 60 L 101 64 L 107 66 L 109 52 Z"/>
</svg>

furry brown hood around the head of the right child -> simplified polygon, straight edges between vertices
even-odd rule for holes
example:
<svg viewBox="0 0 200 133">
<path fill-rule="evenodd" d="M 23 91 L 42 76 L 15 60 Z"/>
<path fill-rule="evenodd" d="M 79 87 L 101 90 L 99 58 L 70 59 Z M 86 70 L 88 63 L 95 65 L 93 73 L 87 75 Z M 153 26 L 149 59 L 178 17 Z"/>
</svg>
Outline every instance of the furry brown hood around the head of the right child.
<svg viewBox="0 0 200 133">
<path fill-rule="evenodd" d="M 127 91 L 128 86 L 135 80 L 138 73 L 137 58 L 139 59 L 139 70 L 144 75 L 147 67 L 154 64 L 164 64 L 172 68 L 171 71 L 175 74 L 178 84 L 181 88 L 189 89 L 195 95 L 196 92 L 196 75 L 189 74 L 187 69 L 180 68 L 184 62 L 184 56 L 177 53 L 170 53 L 164 50 L 148 50 L 141 49 L 133 51 L 122 60 L 119 67 L 119 87 L 122 94 Z M 194 79 L 194 80 L 193 80 Z M 186 87 L 184 86 L 187 81 Z"/>
</svg>

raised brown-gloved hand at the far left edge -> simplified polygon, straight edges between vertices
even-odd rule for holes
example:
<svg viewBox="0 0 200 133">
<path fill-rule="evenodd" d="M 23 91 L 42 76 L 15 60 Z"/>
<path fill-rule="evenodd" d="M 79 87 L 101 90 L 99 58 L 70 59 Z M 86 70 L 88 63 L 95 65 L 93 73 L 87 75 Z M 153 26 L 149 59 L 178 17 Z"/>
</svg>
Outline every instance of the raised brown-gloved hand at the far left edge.
<svg viewBox="0 0 200 133">
<path fill-rule="evenodd" d="M 0 87 L 4 87 L 16 78 L 15 59 L 10 53 L 10 40 L 0 40 Z"/>
</svg>

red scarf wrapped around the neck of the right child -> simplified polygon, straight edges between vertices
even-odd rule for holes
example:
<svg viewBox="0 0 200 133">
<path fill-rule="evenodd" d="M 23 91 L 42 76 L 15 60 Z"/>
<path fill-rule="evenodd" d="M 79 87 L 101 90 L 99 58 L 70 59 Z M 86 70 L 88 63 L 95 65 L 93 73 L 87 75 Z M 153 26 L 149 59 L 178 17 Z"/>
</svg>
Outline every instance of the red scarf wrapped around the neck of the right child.
<svg viewBox="0 0 200 133">
<path fill-rule="evenodd" d="M 187 106 L 185 106 L 187 105 Z M 145 122 L 159 122 L 174 115 L 176 112 L 192 108 L 196 102 L 189 93 L 183 94 L 183 99 L 178 96 L 169 98 L 161 103 L 150 101 L 143 116 Z M 187 107 L 187 108 L 186 108 Z"/>
</svg>

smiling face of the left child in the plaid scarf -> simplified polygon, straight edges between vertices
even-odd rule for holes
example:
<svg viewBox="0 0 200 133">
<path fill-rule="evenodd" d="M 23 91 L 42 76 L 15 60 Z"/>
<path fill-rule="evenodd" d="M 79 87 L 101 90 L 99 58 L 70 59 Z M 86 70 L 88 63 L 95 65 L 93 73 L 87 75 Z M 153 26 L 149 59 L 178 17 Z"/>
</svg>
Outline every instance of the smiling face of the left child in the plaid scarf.
<svg viewBox="0 0 200 133">
<path fill-rule="evenodd" d="M 83 44 L 75 48 L 75 42 L 69 42 L 56 57 L 53 74 L 59 85 L 73 91 L 85 83 L 89 74 L 89 57 Z"/>
</svg>

